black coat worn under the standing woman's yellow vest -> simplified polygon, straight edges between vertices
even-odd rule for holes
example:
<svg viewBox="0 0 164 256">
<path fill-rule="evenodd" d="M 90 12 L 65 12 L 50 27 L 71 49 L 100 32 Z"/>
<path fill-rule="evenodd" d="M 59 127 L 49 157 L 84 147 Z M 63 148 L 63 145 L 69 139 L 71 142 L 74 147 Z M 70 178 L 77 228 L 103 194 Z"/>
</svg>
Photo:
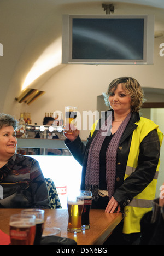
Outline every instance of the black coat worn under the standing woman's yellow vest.
<svg viewBox="0 0 164 256">
<path fill-rule="evenodd" d="M 157 131 L 151 131 L 140 143 L 140 153 L 138 157 L 138 167 L 124 181 L 128 153 L 131 146 L 131 139 L 133 131 L 138 125 L 135 123 L 140 120 L 138 113 L 132 113 L 131 119 L 126 126 L 122 135 L 120 145 L 118 148 L 118 155 L 116 161 L 116 178 L 115 178 L 115 191 L 113 197 L 120 206 L 126 206 L 131 202 L 134 196 L 141 193 L 145 187 L 154 178 L 156 167 L 160 155 L 160 142 Z M 81 139 L 78 137 L 75 141 L 70 142 L 65 140 L 65 144 L 74 156 L 74 158 L 83 166 L 81 177 L 81 190 L 85 190 L 85 173 L 87 166 L 87 155 L 89 152 L 90 144 L 96 136 L 98 130 L 95 129 L 93 135 L 87 139 L 86 146 L 84 146 Z"/>
</svg>

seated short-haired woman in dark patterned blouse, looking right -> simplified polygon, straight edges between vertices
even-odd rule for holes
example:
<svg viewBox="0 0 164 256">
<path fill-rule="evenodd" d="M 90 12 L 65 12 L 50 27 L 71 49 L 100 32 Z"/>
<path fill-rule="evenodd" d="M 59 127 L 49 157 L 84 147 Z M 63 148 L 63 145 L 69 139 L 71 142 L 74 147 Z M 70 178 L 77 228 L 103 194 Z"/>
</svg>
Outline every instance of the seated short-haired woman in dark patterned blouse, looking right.
<svg viewBox="0 0 164 256">
<path fill-rule="evenodd" d="M 0 114 L 0 208 L 50 208 L 39 163 L 15 153 L 16 126 L 11 115 Z"/>
</svg>

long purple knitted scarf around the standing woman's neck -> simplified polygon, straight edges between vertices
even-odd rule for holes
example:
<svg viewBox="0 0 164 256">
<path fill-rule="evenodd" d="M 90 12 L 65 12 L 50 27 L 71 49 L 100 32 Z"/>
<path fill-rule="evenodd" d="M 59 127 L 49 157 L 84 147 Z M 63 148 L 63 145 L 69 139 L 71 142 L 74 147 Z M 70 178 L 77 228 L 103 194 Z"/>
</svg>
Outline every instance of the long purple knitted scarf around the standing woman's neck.
<svg viewBox="0 0 164 256">
<path fill-rule="evenodd" d="M 112 117 L 112 118 L 111 118 Z M 125 120 L 120 124 L 118 130 L 114 133 L 106 152 L 106 179 L 109 200 L 114 193 L 115 185 L 115 172 L 116 172 L 116 156 L 118 152 L 119 143 L 122 134 L 131 118 L 131 112 L 127 115 Z M 85 176 L 85 189 L 92 191 L 92 197 L 97 200 L 98 187 L 99 187 L 99 153 L 106 136 L 111 134 L 110 129 L 112 121 L 114 120 L 114 113 L 110 114 L 109 117 L 104 121 L 101 128 L 97 132 L 93 139 L 87 160 L 86 176 Z"/>
</svg>

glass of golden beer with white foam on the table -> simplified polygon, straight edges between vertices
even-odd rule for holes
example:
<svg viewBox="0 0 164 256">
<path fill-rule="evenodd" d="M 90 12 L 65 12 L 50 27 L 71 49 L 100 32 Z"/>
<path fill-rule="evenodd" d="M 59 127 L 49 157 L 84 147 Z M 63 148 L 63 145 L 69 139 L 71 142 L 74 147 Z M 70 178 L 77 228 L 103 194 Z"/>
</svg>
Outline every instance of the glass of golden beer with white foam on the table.
<svg viewBox="0 0 164 256">
<path fill-rule="evenodd" d="M 68 195 L 68 232 L 81 232 L 81 214 L 83 212 L 84 197 L 80 193 Z"/>
</svg>

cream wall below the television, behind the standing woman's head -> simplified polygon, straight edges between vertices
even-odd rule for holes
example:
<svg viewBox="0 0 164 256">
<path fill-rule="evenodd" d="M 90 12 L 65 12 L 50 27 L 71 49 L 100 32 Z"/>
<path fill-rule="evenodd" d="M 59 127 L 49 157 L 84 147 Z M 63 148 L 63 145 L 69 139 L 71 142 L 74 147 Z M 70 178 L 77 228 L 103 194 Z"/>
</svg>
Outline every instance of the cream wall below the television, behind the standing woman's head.
<svg viewBox="0 0 164 256">
<path fill-rule="evenodd" d="M 45 112 L 60 110 L 65 106 L 77 106 L 83 110 L 97 109 L 97 96 L 108 88 L 109 83 L 121 76 L 136 78 L 143 87 L 164 88 L 164 57 L 159 55 L 159 45 L 164 39 L 155 39 L 154 65 L 63 65 L 51 78 L 40 86 L 46 94 L 30 106 L 14 101 L 15 89 L 10 86 L 3 112 L 15 114 L 30 112 L 33 123 L 42 124 Z M 90 129 L 90 127 L 89 127 Z M 89 131 L 81 132 L 86 139 Z"/>
</svg>

